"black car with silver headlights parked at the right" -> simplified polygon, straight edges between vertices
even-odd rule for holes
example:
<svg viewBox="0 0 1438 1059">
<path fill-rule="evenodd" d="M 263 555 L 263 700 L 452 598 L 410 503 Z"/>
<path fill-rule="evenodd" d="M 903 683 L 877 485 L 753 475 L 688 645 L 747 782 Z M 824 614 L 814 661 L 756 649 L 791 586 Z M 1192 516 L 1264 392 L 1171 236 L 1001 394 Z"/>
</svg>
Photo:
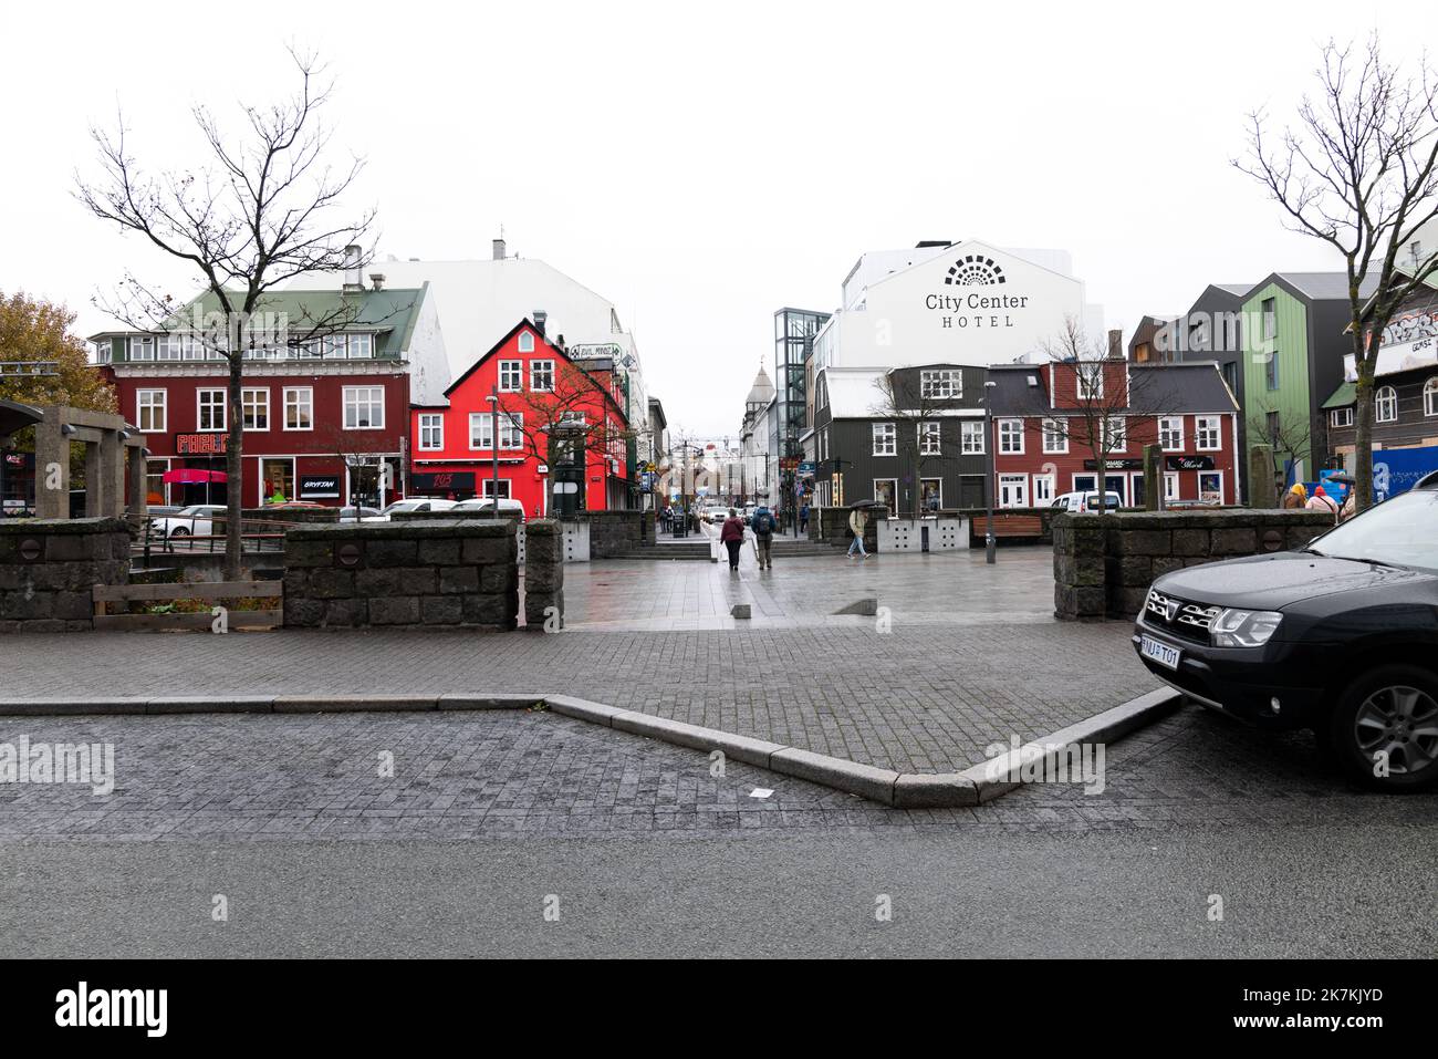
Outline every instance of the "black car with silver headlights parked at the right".
<svg viewBox="0 0 1438 1059">
<path fill-rule="evenodd" d="M 1438 783 L 1438 475 L 1301 551 L 1165 574 L 1133 649 L 1204 705 L 1311 728 L 1369 786 Z"/>
</svg>

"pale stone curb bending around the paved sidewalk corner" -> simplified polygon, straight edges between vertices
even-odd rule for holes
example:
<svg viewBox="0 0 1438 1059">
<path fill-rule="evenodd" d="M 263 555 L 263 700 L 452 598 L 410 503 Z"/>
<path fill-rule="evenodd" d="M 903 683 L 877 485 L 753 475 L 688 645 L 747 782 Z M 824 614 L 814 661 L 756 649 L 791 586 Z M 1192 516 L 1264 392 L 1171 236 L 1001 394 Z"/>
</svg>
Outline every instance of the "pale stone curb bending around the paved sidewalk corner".
<svg viewBox="0 0 1438 1059">
<path fill-rule="evenodd" d="M 463 709 L 532 709 L 544 706 L 562 717 L 572 717 L 631 735 L 670 742 L 700 751 L 722 751 L 772 773 L 808 780 L 823 787 L 858 794 L 894 809 L 952 809 L 978 806 L 1007 794 L 1022 783 L 1009 778 L 1018 768 L 1048 753 L 1074 744 L 1109 742 L 1172 712 L 1183 696 L 1160 688 L 1148 695 L 1106 709 L 1086 721 L 1068 725 L 1043 740 L 1028 742 L 1001 757 L 971 765 L 962 773 L 897 773 L 800 747 L 785 747 L 749 735 L 705 728 L 653 717 L 633 709 L 618 709 L 603 702 L 571 695 L 447 694 L 447 695 L 275 695 L 203 698 L 105 698 L 85 699 L 0 699 L 0 715 L 75 717 L 75 715 L 173 715 L 173 714 L 328 714 L 328 712 L 410 712 Z"/>
</svg>

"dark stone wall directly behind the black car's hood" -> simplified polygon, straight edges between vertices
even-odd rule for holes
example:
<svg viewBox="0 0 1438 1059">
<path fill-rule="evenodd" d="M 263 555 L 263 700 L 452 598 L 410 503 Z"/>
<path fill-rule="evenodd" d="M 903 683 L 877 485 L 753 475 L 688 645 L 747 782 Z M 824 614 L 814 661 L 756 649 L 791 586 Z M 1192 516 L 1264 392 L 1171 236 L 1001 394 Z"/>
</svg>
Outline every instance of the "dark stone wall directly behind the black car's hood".
<svg viewBox="0 0 1438 1059">
<path fill-rule="evenodd" d="M 1129 619 L 1153 578 L 1222 558 L 1301 548 L 1333 528 L 1320 511 L 1156 511 L 1054 518 L 1054 616 Z"/>
</svg>

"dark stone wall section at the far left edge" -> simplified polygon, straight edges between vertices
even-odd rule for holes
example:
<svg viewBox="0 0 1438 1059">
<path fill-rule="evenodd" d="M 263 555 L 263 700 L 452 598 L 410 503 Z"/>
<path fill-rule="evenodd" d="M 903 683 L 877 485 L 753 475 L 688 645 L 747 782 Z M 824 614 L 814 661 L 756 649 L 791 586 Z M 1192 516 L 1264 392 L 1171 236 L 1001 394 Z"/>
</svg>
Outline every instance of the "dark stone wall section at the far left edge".
<svg viewBox="0 0 1438 1059">
<path fill-rule="evenodd" d="M 122 518 L 0 519 L 0 633 L 88 632 L 96 584 L 129 583 Z"/>
</svg>

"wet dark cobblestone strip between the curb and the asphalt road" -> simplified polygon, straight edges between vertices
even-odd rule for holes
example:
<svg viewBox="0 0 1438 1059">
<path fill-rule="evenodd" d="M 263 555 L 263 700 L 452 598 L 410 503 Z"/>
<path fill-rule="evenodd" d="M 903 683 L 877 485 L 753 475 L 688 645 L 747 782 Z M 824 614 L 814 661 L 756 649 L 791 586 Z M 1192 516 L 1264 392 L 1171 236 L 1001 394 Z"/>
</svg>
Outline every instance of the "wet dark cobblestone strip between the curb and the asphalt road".
<svg viewBox="0 0 1438 1059">
<path fill-rule="evenodd" d="M 716 777 L 706 754 L 546 712 L 0 718 L 0 742 L 22 735 L 112 742 L 115 788 L 0 784 L 0 842 L 1431 827 L 1438 809 L 1350 787 L 1303 735 L 1199 708 L 1110 747 L 1102 791 L 1035 784 L 922 812 L 738 763 Z"/>
</svg>

